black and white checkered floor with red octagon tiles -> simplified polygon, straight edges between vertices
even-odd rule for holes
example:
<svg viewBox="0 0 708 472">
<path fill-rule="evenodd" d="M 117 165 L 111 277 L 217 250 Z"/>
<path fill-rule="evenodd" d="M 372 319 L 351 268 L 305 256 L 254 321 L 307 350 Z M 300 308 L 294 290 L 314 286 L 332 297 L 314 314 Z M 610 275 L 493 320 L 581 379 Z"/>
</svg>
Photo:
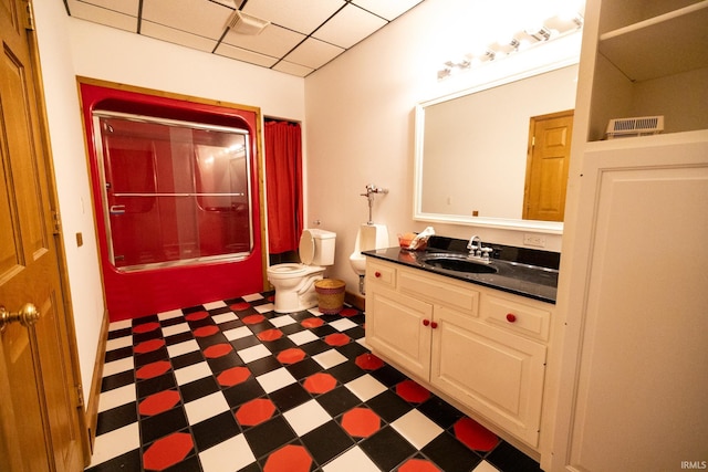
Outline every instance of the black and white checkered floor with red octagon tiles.
<svg viewBox="0 0 708 472">
<path fill-rule="evenodd" d="M 272 293 L 112 323 L 98 409 L 94 472 L 540 470 L 372 355 L 362 312 Z"/>
</svg>

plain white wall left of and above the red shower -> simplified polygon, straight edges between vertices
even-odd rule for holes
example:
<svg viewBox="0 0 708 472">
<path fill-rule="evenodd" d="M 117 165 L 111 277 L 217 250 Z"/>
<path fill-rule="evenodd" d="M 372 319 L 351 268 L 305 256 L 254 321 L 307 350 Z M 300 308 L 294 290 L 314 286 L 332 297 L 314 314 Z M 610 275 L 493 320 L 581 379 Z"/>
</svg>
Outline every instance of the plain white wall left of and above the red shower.
<svg viewBox="0 0 708 472">
<path fill-rule="evenodd" d="M 76 75 L 257 106 L 263 115 L 292 120 L 304 119 L 304 80 L 73 19 L 61 1 L 35 1 L 34 9 L 81 375 L 88 389 L 105 304 Z"/>
</svg>

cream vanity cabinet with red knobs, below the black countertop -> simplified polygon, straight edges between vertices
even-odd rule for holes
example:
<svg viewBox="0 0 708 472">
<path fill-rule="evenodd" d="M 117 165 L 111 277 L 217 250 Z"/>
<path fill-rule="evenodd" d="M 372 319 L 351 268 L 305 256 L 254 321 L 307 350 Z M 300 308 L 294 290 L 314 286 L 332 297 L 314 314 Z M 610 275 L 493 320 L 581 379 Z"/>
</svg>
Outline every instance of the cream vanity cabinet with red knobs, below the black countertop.
<svg viewBox="0 0 708 472">
<path fill-rule="evenodd" d="M 552 304 L 367 258 L 366 344 L 538 451 Z"/>
</svg>

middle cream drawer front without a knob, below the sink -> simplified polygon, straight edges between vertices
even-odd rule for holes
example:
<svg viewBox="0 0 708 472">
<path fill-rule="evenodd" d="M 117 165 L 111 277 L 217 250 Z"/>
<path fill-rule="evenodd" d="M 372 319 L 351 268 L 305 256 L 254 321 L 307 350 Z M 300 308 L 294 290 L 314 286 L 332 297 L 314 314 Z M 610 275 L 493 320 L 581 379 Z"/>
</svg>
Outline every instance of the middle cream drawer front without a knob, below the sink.
<svg viewBox="0 0 708 472">
<path fill-rule="evenodd" d="M 458 285 L 451 279 L 421 274 L 420 271 L 400 271 L 398 274 L 400 292 L 477 316 L 479 292 L 471 290 L 472 284 L 461 282 Z"/>
</svg>

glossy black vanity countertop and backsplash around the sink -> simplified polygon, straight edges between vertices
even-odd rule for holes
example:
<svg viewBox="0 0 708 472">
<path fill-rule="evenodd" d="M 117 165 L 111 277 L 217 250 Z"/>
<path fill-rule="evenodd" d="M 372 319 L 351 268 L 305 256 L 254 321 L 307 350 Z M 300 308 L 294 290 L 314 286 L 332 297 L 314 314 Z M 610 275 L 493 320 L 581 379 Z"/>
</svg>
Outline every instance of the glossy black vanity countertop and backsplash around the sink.
<svg viewBox="0 0 708 472">
<path fill-rule="evenodd" d="M 491 265 L 497 273 L 460 273 L 424 265 L 421 256 L 430 252 L 467 253 L 467 249 L 459 249 L 459 241 L 449 238 L 434 237 L 428 241 L 425 251 L 407 251 L 400 248 L 387 248 L 364 251 L 363 254 L 382 261 L 418 269 L 438 275 L 449 276 L 490 289 L 500 290 L 516 295 L 555 304 L 558 292 L 558 264 L 560 254 L 549 251 L 537 251 L 524 248 L 506 247 L 486 243 L 494 252 Z M 464 241 L 466 245 L 467 242 Z M 543 265 L 538 265 L 542 263 Z"/>
</svg>

